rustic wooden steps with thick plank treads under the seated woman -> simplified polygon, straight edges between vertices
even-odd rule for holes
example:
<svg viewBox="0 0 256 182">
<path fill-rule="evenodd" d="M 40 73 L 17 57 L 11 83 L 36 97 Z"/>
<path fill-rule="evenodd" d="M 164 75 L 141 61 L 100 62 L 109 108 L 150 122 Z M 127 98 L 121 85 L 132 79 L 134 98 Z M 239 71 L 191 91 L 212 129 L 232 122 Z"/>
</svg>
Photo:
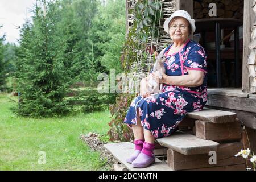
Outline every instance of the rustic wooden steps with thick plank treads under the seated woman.
<svg viewBox="0 0 256 182">
<path fill-rule="evenodd" d="M 203 109 L 188 113 L 179 131 L 156 139 L 156 163 L 147 168 L 133 168 L 126 158 L 134 151 L 131 142 L 108 143 L 104 147 L 116 159 L 116 170 L 245 170 L 245 160 L 234 157 L 243 148 L 242 128 L 236 113 Z M 210 153 L 209 153 L 210 152 Z M 216 152 L 216 164 L 209 164 Z M 160 160 L 161 159 L 161 160 Z M 166 160 L 167 159 L 167 160 Z"/>
</svg>

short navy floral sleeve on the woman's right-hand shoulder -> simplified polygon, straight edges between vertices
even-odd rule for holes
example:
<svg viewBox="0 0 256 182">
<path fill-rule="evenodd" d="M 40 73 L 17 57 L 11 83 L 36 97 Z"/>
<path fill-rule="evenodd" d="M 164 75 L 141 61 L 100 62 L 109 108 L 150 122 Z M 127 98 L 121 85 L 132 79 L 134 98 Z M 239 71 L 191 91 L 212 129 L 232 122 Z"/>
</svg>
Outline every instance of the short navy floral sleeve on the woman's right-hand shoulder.
<svg viewBox="0 0 256 182">
<path fill-rule="evenodd" d="M 204 48 L 195 44 L 189 50 L 187 59 L 185 59 L 185 68 L 207 72 L 207 56 Z"/>
</svg>

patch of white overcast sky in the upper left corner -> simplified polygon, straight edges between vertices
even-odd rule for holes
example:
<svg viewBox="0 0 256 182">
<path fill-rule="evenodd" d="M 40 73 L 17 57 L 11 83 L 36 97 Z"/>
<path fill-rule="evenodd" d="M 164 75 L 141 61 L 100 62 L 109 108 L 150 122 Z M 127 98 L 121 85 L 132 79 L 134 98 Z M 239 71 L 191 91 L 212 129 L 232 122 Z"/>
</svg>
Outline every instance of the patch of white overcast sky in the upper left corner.
<svg viewBox="0 0 256 182">
<path fill-rule="evenodd" d="M 36 0 L 0 0 L 0 36 L 6 34 L 6 42 L 18 43 L 19 30 L 26 18 L 30 19 L 30 12 Z"/>
</svg>

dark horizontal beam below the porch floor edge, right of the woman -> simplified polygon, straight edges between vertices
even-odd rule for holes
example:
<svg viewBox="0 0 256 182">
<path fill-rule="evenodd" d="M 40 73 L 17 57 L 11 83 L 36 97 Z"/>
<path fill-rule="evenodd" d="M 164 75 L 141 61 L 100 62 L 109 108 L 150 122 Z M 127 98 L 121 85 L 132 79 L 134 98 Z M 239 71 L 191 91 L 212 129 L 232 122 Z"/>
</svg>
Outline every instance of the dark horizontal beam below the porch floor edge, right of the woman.
<svg viewBox="0 0 256 182">
<path fill-rule="evenodd" d="M 255 98 L 219 96 L 208 94 L 208 101 L 206 105 L 256 113 Z"/>
</svg>

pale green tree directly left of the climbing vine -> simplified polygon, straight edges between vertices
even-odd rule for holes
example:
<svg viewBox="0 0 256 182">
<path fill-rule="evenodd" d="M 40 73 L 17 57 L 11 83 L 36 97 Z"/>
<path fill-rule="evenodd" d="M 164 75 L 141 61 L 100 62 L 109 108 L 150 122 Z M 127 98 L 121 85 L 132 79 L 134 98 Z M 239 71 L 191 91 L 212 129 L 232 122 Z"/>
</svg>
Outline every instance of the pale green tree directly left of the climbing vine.
<svg viewBox="0 0 256 182">
<path fill-rule="evenodd" d="M 102 2 L 92 20 L 88 42 L 94 45 L 96 59 L 106 72 L 110 69 L 115 69 L 115 73 L 122 72 L 120 57 L 125 42 L 125 3 L 125 0 Z"/>
</svg>

